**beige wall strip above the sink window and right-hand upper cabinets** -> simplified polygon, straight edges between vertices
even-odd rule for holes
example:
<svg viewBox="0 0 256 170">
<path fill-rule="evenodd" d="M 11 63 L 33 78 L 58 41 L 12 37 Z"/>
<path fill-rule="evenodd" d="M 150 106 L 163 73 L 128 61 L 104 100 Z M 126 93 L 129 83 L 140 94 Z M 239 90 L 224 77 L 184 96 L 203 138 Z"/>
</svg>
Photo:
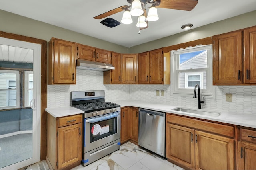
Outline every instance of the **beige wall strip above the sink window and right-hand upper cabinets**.
<svg viewBox="0 0 256 170">
<path fill-rule="evenodd" d="M 242 14 L 240 16 L 232 17 L 226 20 L 218 21 L 202 27 L 191 29 L 189 31 L 184 31 L 176 35 L 151 41 L 149 43 L 144 43 L 142 45 L 131 47 L 130 53 L 141 53 L 144 51 L 150 51 L 152 49 L 168 47 L 171 45 L 176 45 L 176 44 L 185 43 L 188 41 L 194 41 L 197 39 L 211 37 L 213 35 L 227 33 L 230 31 L 235 31 L 238 29 L 243 29 L 243 28 L 251 27 L 255 25 L 256 25 L 256 10 L 252 12 L 248 12 L 246 14 Z"/>
</svg>

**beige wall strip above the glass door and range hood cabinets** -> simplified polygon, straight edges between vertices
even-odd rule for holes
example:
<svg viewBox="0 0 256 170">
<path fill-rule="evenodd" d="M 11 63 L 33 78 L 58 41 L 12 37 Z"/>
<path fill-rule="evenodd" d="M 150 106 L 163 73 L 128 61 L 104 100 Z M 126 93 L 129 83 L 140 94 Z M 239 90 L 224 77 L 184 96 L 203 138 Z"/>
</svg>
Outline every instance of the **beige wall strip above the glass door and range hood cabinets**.
<svg viewBox="0 0 256 170">
<path fill-rule="evenodd" d="M 32 20 L 3 10 L 0 10 L 0 31 L 43 39 L 47 42 L 52 37 L 55 37 L 118 53 L 129 53 L 129 48 L 127 47 L 109 43 L 101 39 L 96 39 L 94 37 Z"/>
</svg>

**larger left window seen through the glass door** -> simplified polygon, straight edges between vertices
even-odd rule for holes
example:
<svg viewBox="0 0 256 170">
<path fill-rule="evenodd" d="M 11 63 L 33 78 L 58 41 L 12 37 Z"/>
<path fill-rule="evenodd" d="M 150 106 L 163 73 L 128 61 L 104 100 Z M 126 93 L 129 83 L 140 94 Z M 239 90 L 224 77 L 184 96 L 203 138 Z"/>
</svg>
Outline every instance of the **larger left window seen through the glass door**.
<svg viewBox="0 0 256 170">
<path fill-rule="evenodd" d="M 0 70 L 0 109 L 20 107 L 19 71 Z"/>
</svg>

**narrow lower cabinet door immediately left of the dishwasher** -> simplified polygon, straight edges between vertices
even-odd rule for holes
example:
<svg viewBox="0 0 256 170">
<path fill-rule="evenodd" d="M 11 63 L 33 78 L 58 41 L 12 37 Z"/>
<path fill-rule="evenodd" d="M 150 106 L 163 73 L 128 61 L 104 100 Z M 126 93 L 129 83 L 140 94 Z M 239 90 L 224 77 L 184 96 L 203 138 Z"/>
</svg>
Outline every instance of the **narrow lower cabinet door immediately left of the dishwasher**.
<svg viewBox="0 0 256 170">
<path fill-rule="evenodd" d="M 130 107 L 130 139 L 138 143 L 138 133 L 139 133 L 139 109 L 136 107 Z"/>
</svg>

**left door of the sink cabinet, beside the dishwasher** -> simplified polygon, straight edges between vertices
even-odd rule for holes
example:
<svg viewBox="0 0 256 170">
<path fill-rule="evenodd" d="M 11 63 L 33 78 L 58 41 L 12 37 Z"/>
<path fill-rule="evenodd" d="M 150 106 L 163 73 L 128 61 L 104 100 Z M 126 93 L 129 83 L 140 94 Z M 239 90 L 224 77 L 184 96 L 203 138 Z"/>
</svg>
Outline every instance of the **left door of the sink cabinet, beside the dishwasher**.
<svg viewBox="0 0 256 170">
<path fill-rule="evenodd" d="M 189 168 L 195 167 L 194 129 L 166 125 L 166 157 Z"/>
</svg>

